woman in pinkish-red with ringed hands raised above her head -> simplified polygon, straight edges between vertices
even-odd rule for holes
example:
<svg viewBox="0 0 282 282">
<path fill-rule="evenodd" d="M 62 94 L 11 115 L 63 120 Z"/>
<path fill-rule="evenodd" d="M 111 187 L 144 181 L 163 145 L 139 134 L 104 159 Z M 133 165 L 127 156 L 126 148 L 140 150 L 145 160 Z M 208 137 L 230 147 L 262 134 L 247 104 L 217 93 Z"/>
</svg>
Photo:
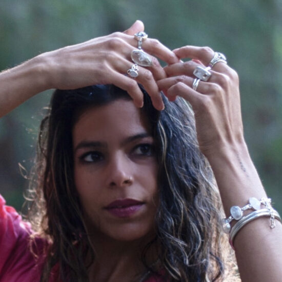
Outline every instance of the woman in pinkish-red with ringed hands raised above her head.
<svg viewBox="0 0 282 282">
<path fill-rule="evenodd" d="M 133 35 L 143 30 L 137 21 L 123 34 L 48 52 L 1 73 L 2 115 L 38 92 L 61 90 L 39 134 L 32 219 L 41 233 L 2 205 L 0 278 L 236 280 L 224 253 L 213 171 L 241 280 L 279 281 L 281 225 L 244 141 L 236 73 L 209 48 L 172 52 L 149 38 L 138 42 L 137 53 L 144 48 L 168 66 L 154 57 L 152 65 L 132 65 L 142 64 L 130 54 Z M 180 61 L 185 57 L 192 60 Z M 247 205 L 250 197 L 261 200 Z M 245 207 L 235 208 L 244 217 L 229 217 L 232 206 Z M 30 251 L 21 253 L 30 237 Z"/>
</svg>

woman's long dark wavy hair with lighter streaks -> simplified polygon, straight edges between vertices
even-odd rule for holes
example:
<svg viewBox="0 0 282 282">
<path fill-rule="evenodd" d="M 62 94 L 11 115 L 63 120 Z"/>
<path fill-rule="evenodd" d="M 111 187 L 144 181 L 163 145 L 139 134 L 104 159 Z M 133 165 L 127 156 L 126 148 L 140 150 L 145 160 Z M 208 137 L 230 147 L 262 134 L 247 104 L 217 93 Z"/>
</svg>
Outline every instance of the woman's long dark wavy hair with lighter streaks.
<svg viewBox="0 0 282 282">
<path fill-rule="evenodd" d="M 144 91 L 144 107 L 156 142 L 159 206 L 156 237 L 142 252 L 147 272 L 137 281 L 162 273 L 166 281 L 237 281 L 212 170 L 197 144 L 194 115 L 188 103 L 177 98 L 157 111 Z M 116 99 L 131 99 L 113 85 L 56 90 L 39 129 L 37 157 L 29 189 L 29 220 L 46 239 L 41 282 L 58 273 L 56 281 L 88 281 L 95 260 L 82 206 L 74 185 L 72 128 L 89 107 Z M 147 260 L 157 246 L 157 259 Z M 87 254 L 87 255 L 86 255 Z M 57 271 L 54 271 L 56 269 Z"/>
</svg>

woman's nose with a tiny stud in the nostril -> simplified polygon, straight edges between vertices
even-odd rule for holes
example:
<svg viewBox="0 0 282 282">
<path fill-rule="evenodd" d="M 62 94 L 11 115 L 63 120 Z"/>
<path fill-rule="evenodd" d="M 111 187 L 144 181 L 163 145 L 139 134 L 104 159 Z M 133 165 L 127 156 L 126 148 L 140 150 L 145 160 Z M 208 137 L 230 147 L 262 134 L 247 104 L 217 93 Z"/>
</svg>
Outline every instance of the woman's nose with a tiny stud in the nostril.
<svg viewBox="0 0 282 282">
<path fill-rule="evenodd" d="M 121 154 L 112 157 L 107 169 L 107 185 L 109 187 L 130 186 L 133 183 L 131 168 L 128 157 Z"/>
</svg>

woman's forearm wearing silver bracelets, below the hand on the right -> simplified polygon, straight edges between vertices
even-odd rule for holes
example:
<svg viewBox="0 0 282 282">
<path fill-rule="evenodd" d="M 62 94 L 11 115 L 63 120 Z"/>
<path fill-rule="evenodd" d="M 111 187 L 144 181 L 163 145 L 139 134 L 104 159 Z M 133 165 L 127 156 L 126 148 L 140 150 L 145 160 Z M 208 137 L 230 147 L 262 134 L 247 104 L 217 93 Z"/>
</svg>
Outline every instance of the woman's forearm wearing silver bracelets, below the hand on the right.
<svg viewBox="0 0 282 282">
<path fill-rule="evenodd" d="M 226 216 L 231 206 L 243 207 L 250 197 L 266 197 L 245 143 L 218 150 L 209 158 Z M 245 211 L 248 213 L 248 211 Z M 281 281 L 282 225 L 270 217 L 259 217 L 245 225 L 234 239 L 240 277 L 248 281 Z"/>
</svg>

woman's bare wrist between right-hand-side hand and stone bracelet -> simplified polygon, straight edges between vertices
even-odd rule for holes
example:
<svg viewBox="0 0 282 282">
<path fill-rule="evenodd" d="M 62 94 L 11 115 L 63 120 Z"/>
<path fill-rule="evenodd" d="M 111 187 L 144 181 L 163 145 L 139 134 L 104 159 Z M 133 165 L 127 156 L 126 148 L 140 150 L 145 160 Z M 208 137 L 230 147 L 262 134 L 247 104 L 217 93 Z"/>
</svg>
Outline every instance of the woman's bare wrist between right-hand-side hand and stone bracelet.
<svg viewBox="0 0 282 282">
<path fill-rule="evenodd" d="M 231 206 L 244 206 L 250 197 L 266 197 L 245 140 L 222 146 L 207 158 L 227 215 Z"/>
</svg>

